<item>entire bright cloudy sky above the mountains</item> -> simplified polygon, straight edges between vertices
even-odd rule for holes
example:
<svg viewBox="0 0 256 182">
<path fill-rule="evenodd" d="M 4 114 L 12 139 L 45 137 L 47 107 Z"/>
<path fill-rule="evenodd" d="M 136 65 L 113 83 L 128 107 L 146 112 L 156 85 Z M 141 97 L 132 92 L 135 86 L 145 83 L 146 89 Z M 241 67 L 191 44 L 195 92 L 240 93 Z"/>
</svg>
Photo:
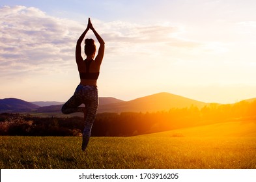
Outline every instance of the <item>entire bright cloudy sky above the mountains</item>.
<svg viewBox="0 0 256 182">
<path fill-rule="evenodd" d="M 249 0 L 1 0 L 0 99 L 69 99 L 79 84 L 76 41 L 89 17 L 106 42 L 100 97 L 256 98 L 255 6 Z M 86 38 L 96 40 L 91 31 Z"/>
</svg>

